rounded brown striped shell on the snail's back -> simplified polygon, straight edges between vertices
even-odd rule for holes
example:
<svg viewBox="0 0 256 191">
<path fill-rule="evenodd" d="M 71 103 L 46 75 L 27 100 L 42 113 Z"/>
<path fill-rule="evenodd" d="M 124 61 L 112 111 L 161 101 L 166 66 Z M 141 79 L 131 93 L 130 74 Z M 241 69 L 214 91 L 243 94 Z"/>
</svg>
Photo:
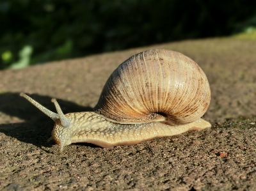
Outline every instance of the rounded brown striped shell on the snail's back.
<svg viewBox="0 0 256 191">
<path fill-rule="evenodd" d="M 156 49 L 119 65 L 93 110 L 116 123 L 168 121 L 182 125 L 199 119 L 210 99 L 207 77 L 192 59 Z"/>
</svg>

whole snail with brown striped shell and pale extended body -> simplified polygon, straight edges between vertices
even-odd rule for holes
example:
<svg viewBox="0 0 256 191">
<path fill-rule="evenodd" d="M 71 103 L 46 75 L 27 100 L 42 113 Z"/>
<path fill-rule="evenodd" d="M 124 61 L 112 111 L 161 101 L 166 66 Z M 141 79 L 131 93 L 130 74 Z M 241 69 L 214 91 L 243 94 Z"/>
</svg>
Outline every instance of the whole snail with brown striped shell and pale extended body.
<svg viewBox="0 0 256 191">
<path fill-rule="evenodd" d="M 110 75 L 93 112 L 63 114 L 52 99 L 55 113 L 20 96 L 55 121 L 48 141 L 54 139 L 61 153 L 74 142 L 111 148 L 211 127 L 201 118 L 211 99 L 205 73 L 171 50 L 147 50 L 124 61 Z"/>
</svg>

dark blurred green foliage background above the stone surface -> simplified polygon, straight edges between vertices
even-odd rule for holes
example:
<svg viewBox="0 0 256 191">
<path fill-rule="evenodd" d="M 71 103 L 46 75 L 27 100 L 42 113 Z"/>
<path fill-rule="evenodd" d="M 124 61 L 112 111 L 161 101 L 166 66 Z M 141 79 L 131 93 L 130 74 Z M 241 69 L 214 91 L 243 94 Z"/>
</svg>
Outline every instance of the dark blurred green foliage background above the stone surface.
<svg viewBox="0 0 256 191">
<path fill-rule="evenodd" d="M 255 29 L 249 0 L 0 0 L 0 70 Z"/>
</svg>

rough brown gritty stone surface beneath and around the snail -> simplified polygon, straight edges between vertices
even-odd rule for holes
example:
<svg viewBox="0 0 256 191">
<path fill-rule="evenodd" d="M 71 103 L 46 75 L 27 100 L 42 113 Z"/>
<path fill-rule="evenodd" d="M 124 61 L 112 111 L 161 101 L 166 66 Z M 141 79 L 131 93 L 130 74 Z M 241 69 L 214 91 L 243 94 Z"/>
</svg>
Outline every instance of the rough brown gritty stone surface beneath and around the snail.
<svg viewBox="0 0 256 191">
<path fill-rule="evenodd" d="M 65 113 L 91 111 L 116 66 L 156 48 L 202 67 L 211 129 L 110 149 L 71 144 L 60 154 L 46 142 L 54 122 L 19 96 L 33 94 L 52 111 L 52 97 Z M 256 190 L 255 50 L 255 40 L 216 38 L 0 72 L 0 190 Z"/>
</svg>

